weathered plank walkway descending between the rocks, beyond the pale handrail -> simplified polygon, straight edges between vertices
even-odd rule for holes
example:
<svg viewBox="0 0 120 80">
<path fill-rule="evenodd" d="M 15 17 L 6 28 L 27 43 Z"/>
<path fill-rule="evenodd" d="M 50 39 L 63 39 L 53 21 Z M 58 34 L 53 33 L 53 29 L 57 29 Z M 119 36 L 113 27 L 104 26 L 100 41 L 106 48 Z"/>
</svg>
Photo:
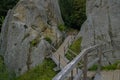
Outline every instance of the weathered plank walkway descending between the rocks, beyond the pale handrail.
<svg viewBox="0 0 120 80">
<path fill-rule="evenodd" d="M 61 46 L 55 52 L 52 52 L 51 59 L 57 64 L 60 69 L 64 68 L 69 62 L 69 60 L 65 57 L 65 53 L 73 41 L 74 36 L 68 36 L 61 44 Z"/>
</svg>

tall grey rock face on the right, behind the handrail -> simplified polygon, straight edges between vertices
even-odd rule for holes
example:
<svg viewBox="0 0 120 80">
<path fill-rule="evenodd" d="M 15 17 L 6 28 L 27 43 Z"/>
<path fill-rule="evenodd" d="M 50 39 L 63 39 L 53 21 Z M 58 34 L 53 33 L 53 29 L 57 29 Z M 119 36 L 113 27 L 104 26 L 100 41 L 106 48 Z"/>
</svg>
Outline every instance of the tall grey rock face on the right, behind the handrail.
<svg viewBox="0 0 120 80">
<path fill-rule="evenodd" d="M 120 60 L 120 1 L 87 0 L 86 5 L 87 20 L 79 33 L 82 48 L 107 43 L 103 51 L 109 52 L 103 54 L 103 65 Z"/>
</svg>

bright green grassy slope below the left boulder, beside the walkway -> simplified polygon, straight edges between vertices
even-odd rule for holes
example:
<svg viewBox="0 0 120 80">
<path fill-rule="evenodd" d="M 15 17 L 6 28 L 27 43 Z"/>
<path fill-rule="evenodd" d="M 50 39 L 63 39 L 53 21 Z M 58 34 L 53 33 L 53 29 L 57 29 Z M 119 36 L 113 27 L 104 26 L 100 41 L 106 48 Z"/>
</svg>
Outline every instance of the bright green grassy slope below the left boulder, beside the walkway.
<svg viewBox="0 0 120 80">
<path fill-rule="evenodd" d="M 52 80 L 52 78 L 57 74 L 53 70 L 55 63 L 51 59 L 46 59 L 43 63 L 34 69 L 26 72 L 16 80 Z"/>
</svg>

